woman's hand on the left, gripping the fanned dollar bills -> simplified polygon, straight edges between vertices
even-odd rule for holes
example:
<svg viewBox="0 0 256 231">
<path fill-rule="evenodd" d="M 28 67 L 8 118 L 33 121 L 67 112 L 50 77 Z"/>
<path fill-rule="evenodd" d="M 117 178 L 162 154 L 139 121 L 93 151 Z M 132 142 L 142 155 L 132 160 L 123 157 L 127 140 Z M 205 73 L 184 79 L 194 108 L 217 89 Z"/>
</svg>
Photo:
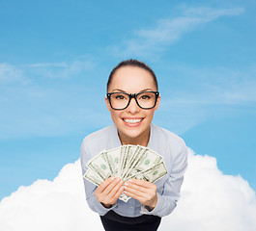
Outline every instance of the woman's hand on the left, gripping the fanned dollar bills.
<svg viewBox="0 0 256 231">
<path fill-rule="evenodd" d="M 95 196 L 105 208 L 109 208 L 117 202 L 122 194 L 124 190 L 123 183 L 120 178 L 109 177 L 96 189 Z"/>
</svg>

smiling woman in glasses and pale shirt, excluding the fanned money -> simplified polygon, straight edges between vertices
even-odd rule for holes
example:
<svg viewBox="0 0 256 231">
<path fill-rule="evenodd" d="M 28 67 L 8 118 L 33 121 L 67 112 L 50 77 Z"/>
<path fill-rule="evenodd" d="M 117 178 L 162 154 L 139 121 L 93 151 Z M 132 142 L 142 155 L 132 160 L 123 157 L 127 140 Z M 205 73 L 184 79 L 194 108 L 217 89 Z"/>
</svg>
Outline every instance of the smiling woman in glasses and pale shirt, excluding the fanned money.
<svg viewBox="0 0 256 231">
<path fill-rule="evenodd" d="M 151 148 L 163 157 L 168 173 L 155 184 L 110 177 L 96 187 L 84 180 L 89 207 L 99 213 L 105 230 L 156 230 L 160 219 L 176 207 L 186 167 L 185 142 L 152 123 L 159 107 L 156 75 L 147 64 L 123 61 L 113 68 L 107 82 L 105 103 L 113 125 L 84 139 L 81 146 L 83 174 L 87 162 L 103 149 L 134 144 Z M 128 202 L 119 198 L 122 193 Z"/>
</svg>

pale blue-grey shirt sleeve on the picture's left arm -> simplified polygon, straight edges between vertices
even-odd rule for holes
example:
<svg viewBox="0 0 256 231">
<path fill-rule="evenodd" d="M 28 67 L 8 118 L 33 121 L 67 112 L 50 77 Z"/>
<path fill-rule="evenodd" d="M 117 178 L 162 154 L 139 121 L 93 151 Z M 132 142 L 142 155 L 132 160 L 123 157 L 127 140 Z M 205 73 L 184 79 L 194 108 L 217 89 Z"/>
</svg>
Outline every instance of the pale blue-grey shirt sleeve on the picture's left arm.
<svg viewBox="0 0 256 231">
<path fill-rule="evenodd" d="M 88 168 L 86 164 L 92 157 L 93 156 L 91 155 L 89 149 L 86 146 L 86 141 L 83 141 L 81 145 L 81 155 L 80 155 L 83 175 Z M 100 216 L 104 216 L 109 210 L 115 207 L 115 206 L 112 206 L 111 208 L 107 209 L 104 206 L 102 206 L 98 198 L 94 194 L 95 190 L 97 189 L 97 186 L 91 183 L 90 181 L 86 180 L 85 178 L 83 178 L 83 182 L 84 182 L 84 189 L 86 194 L 86 201 L 89 207 L 94 212 L 98 213 Z"/>
</svg>

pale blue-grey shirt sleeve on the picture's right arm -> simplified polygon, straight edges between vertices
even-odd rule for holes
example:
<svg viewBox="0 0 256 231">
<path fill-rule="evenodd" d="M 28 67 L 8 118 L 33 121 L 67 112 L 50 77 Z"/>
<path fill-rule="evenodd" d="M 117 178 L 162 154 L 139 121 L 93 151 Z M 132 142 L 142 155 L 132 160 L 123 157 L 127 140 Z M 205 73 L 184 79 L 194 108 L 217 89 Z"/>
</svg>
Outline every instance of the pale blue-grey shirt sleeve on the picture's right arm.
<svg viewBox="0 0 256 231">
<path fill-rule="evenodd" d="M 163 217 L 172 213 L 172 211 L 176 208 L 177 201 L 180 198 L 180 191 L 184 181 L 186 167 L 187 148 L 183 142 L 183 145 L 173 160 L 172 169 L 170 172 L 168 172 L 168 178 L 164 182 L 162 192 L 157 192 L 157 202 L 155 209 L 150 211 L 149 207 L 142 205 L 142 214 Z"/>
</svg>

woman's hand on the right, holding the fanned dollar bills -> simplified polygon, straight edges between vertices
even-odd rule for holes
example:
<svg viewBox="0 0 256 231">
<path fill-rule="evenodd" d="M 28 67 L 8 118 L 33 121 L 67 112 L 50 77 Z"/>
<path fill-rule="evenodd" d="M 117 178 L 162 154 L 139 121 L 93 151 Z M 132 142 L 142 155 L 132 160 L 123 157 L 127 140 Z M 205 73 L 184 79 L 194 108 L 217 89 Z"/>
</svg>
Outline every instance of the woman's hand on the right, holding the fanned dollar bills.
<svg viewBox="0 0 256 231">
<path fill-rule="evenodd" d="M 156 207 L 157 194 L 156 185 L 139 179 L 130 179 L 125 183 L 124 192 L 137 199 L 141 204 L 147 205 L 153 210 Z"/>
</svg>

